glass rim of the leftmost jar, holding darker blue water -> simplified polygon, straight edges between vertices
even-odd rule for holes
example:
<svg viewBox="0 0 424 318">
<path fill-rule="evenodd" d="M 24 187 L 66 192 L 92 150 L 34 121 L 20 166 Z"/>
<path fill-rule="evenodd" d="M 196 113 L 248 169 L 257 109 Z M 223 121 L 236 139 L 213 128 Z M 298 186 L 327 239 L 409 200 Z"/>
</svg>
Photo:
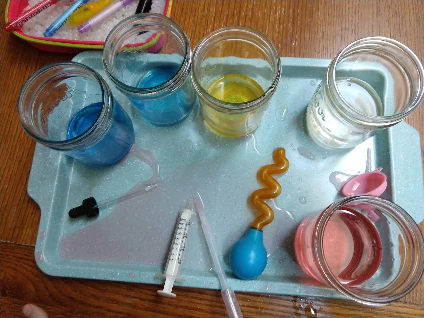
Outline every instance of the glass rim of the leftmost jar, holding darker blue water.
<svg viewBox="0 0 424 318">
<path fill-rule="evenodd" d="M 31 86 L 31 84 L 33 83 L 33 81 L 35 81 L 36 78 L 38 78 L 40 75 L 56 67 L 80 68 L 81 71 L 85 72 L 85 74 L 81 73 L 80 75 L 81 76 L 88 75 L 88 74 L 91 75 L 93 79 L 98 83 L 100 87 L 100 92 L 102 94 L 102 101 L 101 101 L 102 108 L 97 118 L 95 119 L 95 121 L 91 124 L 91 126 L 82 134 L 75 136 L 71 139 L 65 139 L 65 140 L 50 140 L 50 139 L 42 138 L 39 135 L 34 134 L 33 130 L 30 128 L 30 125 L 28 125 L 28 123 L 22 119 L 24 117 L 24 115 L 22 114 L 22 104 L 23 104 L 22 99 L 24 98 L 24 95 L 26 93 L 25 90 L 28 89 L 29 86 Z M 78 62 L 61 61 L 61 62 L 54 62 L 54 63 L 45 65 L 44 67 L 40 68 L 35 73 L 33 73 L 25 81 L 19 93 L 17 111 L 18 111 L 19 120 L 21 122 L 22 127 L 25 129 L 27 134 L 30 135 L 33 139 L 49 147 L 66 150 L 66 148 L 72 148 L 72 147 L 80 145 L 81 142 L 83 141 L 91 142 L 92 140 L 97 139 L 98 136 L 95 135 L 95 131 L 98 131 L 99 126 L 103 126 L 104 124 L 108 122 L 108 119 L 110 119 L 109 117 L 111 117 L 110 115 L 112 114 L 112 107 L 113 107 L 112 92 L 110 92 L 109 87 L 107 86 L 106 82 L 100 76 L 99 73 L 97 73 L 91 67 L 88 67 Z M 100 131 L 100 134 L 103 134 L 103 131 Z"/>
</svg>

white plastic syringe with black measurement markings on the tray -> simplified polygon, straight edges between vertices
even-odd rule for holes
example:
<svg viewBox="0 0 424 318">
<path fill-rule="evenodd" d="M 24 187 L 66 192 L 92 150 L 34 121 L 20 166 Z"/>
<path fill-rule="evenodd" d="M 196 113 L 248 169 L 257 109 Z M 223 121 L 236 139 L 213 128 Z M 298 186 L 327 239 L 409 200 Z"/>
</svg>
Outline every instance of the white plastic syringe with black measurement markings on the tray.
<svg viewBox="0 0 424 318">
<path fill-rule="evenodd" d="M 187 203 L 186 207 L 181 210 L 180 217 L 177 221 L 174 237 L 169 249 L 169 256 L 165 266 L 165 273 L 156 274 L 156 276 L 165 278 L 163 290 L 157 293 L 162 296 L 174 298 L 177 295 L 172 293 L 172 287 L 177 280 L 184 280 L 179 276 L 181 263 L 184 258 L 184 251 L 187 248 L 187 233 L 190 228 L 191 218 L 194 215 L 193 199 Z"/>
</svg>

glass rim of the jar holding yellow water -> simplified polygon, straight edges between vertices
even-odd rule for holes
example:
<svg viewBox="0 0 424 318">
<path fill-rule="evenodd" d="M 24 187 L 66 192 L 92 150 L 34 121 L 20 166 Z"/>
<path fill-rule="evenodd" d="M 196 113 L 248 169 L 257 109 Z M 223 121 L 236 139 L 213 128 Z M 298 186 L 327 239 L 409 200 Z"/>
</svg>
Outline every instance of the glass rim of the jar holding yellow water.
<svg viewBox="0 0 424 318">
<path fill-rule="evenodd" d="M 265 92 L 263 92 L 262 95 L 260 95 L 259 97 L 255 98 L 253 100 L 249 100 L 246 103 L 228 103 L 228 102 L 224 102 L 222 100 L 219 100 L 218 98 L 213 97 L 208 92 L 206 92 L 206 90 L 200 84 L 200 82 L 198 81 L 194 71 L 191 72 L 191 78 L 192 78 L 193 86 L 194 86 L 196 92 L 198 93 L 198 95 L 201 98 L 206 99 L 209 102 L 211 102 L 212 105 L 210 105 L 210 106 L 212 106 L 216 109 L 225 110 L 225 111 L 235 111 L 235 112 L 251 111 L 252 109 L 259 107 L 261 102 L 266 100 L 268 98 L 268 96 L 276 90 L 276 88 L 279 84 L 280 78 L 281 78 L 280 56 L 278 54 L 278 51 L 277 51 L 275 45 L 271 42 L 270 39 L 268 39 L 267 36 L 265 36 L 265 34 L 259 32 L 257 30 L 254 30 L 252 28 L 239 26 L 239 25 L 226 26 L 226 27 L 218 28 L 218 29 L 212 31 L 211 33 L 207 34 L 206 36 L 204 36 L 203 39 L 201 39 L 198 42 L 198 44 L 195 46 L 195 48 L 193 50 L 193 59 L 192 59 L 192 62 L 191 62 L 191 65 L 192 65 L 191 67 L 193 68 L 194 60 L 197 58 L 197 56 L 199 54 L 199 49 L 201 48 L 201 46 L 204 46 L 205 43 L 212 36 L 215 36 L 219 33 L 226 33 L 227 31 L 243 31 L 245 33 L 254 34 L 255 36 L 257 36 L 257 38 L 259 38 L 260 40 L 262 40 L 266 43 L 266 45 L 268 46 L 268 48 L 271 51 L 271 54 L 272 54 L 271 58 L 276 61 L 276 67 L 275 68 L 277 69 L 277 72 L 276 72 L 276 74 L 273 78 L 271 85 L 268 87 L 268 89 L 266 89 Z M 221 37 L 220 41 L 222 41 L 223 39 L 226 39 L 226 37 L 225 36 Z M 213 42 L 213 43 L 215 43 L 215 42 Z M 209 45 L 211 45 L 211 44 L 209 44 Z"/>
</svg>

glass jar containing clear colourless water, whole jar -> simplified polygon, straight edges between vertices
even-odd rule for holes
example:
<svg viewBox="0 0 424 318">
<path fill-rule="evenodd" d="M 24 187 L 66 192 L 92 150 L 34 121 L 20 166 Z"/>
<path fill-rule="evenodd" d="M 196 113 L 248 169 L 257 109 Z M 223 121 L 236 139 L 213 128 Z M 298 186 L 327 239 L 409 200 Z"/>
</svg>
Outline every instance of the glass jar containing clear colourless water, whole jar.
<svg viewBox="0 0 424 318">
<path fill-rule="evenodd" d="M 351 148 L 396 125 L 418 107 L 424 71 L 393 39 L 373 36 L 346 46 L 330 62 L 307 108 L 310 137 L 324 148 Z"/>
</svg>

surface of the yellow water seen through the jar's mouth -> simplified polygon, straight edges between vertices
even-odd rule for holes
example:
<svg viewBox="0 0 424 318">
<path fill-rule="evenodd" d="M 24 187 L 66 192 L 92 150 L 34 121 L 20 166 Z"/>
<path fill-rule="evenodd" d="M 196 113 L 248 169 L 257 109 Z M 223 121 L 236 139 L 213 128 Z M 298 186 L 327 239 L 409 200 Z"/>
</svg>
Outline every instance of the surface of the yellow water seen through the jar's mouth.
<svg viewBox="0 0 424 318">
<path fill-rule="evenodd" d="M 247 103 L 261 96 L 264 90 L 250 77 L 228 74 L 213 81 L 207 92 L 226 103 Z"/>
</svg>

